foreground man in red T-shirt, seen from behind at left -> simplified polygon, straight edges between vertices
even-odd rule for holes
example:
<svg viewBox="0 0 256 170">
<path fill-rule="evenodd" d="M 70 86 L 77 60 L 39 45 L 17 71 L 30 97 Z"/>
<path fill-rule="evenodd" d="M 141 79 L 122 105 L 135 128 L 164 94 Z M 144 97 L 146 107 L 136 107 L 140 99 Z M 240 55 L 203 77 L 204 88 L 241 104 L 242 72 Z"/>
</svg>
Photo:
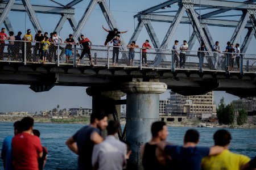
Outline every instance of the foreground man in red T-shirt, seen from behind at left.
<svg viewBox="0 0 256 170">
<path fill-rule="evenodd" d="M 38 158 L 43 156 L 43 148 L 39 137 L 33 135 L 34 119 L 22 119 L 22 133 L 15 135 L 13 148 L 13 164 L 15 170 L 38 170 Z"/>
</svg>

